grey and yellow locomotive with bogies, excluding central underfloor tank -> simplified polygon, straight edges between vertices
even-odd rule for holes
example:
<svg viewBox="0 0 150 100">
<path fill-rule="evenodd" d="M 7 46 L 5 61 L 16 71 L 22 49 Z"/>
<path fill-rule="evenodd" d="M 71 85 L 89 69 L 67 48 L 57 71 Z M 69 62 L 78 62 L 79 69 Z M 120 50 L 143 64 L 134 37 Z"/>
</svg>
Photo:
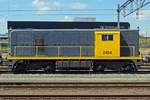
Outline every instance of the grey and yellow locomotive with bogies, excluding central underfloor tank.
<svg viewBox="0 0 150 100">
<path fill-rule="evenodd" d="M 138 30 L 14 29 L 9 40 L 8 60 L 14 61 L 15 68 L 31 68 L 36 62 L 45 68 L 67 60 L 91 61 L 95 71 L 103 67 L 121 70 L 123 66 L 136 70 L 141 59 Z"/>
</svg>

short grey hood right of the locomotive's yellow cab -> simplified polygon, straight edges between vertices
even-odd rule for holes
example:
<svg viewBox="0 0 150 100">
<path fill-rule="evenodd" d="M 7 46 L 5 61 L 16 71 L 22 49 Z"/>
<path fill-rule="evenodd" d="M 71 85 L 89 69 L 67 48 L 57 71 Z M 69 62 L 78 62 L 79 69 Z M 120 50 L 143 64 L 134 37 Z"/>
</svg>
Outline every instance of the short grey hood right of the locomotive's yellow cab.
<svg viewBox="0 0 150 100">
<path fill-rule="evenodd" d="M 121 47 L 120 56 L 134 56 L 134 55 L 138 56 L 139 55 L 139 32 L 137 30 L 121 31 L 120 45 L 130 47 L 130 48 Z M 132 48 L 132 46 L 134 46 L 134 48 Z"/>
</svg>

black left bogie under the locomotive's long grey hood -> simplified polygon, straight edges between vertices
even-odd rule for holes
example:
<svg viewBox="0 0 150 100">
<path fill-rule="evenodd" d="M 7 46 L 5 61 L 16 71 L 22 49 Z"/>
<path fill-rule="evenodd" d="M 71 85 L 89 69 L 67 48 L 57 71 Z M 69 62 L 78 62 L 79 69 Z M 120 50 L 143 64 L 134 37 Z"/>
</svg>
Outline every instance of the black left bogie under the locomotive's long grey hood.
<svg viewBox="0 0 150 100">
<path fill-rule="evenodd" d="M 47 73 L 55 72 L 55 61 L 16 61 L 13 65 L 12 71 L 14 73 L 25 73 L 28 71 L 45 71 Z"/>
</svg>

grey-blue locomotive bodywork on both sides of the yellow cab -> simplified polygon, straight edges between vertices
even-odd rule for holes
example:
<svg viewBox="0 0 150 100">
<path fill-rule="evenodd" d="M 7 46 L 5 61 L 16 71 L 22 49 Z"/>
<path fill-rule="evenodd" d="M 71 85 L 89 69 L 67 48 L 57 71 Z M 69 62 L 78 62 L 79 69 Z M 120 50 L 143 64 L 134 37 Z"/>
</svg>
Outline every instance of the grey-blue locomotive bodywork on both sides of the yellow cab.
<svg viewBox="0 0 150 100">
<path fill-rule="evenodd" d="M 62 56 L 62 57 L 93 57 L 95 46 L 95 31 L 103 30 L 13 30 L 10 32 L 11 56 Z M 106 30 L 104 30 L 106 31 Z M 107 30 L 117 31 L 117 30 Z M 135 56 L 139 55 L 139 33 L 137 30 L 121 30 L 120 34 L 121 46 L 135 46 Z M 45 46 L 38 48 L 17 48 L 14 52 L 14 46 Z M 49 46 L 49 47 L 47 47 Z M 59 55 L 58 55 L 58 46 Z M 74 47 L 73 47 L 74 46 Z M 82 46 L 80 55 L 80 46 Z M 120 56 L 133 56 L 132 48 L 120 47 Z"/>
</svg>

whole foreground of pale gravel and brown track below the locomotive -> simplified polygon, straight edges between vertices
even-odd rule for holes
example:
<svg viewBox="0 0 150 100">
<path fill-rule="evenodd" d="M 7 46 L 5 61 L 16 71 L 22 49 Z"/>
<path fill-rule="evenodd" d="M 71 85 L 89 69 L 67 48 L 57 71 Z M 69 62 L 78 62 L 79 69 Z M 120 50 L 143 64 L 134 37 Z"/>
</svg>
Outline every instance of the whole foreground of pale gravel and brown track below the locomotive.
<svg viewBox="0 0 150 100">
<path fill-rule="evenodd" d="M 149 74 L 1 74 L 0 100 L 150 100 L 149 77 Z"/>
</svg>

